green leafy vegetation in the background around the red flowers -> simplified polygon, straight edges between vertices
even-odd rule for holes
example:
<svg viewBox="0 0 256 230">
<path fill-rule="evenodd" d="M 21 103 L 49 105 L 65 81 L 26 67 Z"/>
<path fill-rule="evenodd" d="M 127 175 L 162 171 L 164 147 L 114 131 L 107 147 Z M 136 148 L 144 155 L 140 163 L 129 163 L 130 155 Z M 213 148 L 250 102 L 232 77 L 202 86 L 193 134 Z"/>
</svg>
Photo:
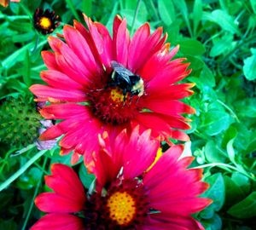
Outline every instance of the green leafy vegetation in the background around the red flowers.
<svg viewBox="0 0 256 230">
<path fill-rule="evenodd" d="M 60 157 L 56 146 L 38 151 L 26 135 L 39 126 L 39 118 L 29 115 L 36 107 L 26 106 L 32 105 L 28 87 L 41 82 L 39 72 L 45 66 L 40 52 L 49 49 L 47 37 L 32 26 L 38 7 L 60 15 L 61 26 L 54 34 L 73 19 L 83 21 L 82 12 L 109 29 L 120 14 L 131 33 L 145 21 L 152 31 L 163 26 L 168 42 L 180 44 L 177 56 L 191 62 L 193 72 L 185 82 L 196 83 L 195 95 L 186 100 L 197 112 L 191 117 L 191 142 L 184 154 L 192 152 L 193 167 L 205 169 L 204 180 L 211 188 L 204 196 L 214 201 L 196 218 L 207 230 L 255 229 L 255 0 L 21 0 L 0 6 L 0 229 L 29 229 L 41 216 L 33 198 L 48 189 L 44 175 L 49 165 L 70 160 Z M 9 110 L 13 115 L 6 118 Z M 83 164 L 74 168 L 89 187 L 93 176 Z"/>
</svg>

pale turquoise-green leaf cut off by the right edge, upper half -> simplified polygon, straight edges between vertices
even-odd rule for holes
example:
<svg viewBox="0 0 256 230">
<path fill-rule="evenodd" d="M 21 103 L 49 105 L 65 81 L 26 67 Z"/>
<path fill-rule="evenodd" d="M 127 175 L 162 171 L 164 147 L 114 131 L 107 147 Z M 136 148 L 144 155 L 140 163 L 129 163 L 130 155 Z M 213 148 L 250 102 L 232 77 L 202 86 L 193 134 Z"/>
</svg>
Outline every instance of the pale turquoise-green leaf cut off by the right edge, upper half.
<svg viewBox="0 0 256 230">
<path fill-rule="evenodd" d="M 242 67 L 242 71 L 249 81 L 256 79 L 256 49 L 252 48 L 251 52 L 253 55 L 244 60 L 244 66 Z"/>
</svg>

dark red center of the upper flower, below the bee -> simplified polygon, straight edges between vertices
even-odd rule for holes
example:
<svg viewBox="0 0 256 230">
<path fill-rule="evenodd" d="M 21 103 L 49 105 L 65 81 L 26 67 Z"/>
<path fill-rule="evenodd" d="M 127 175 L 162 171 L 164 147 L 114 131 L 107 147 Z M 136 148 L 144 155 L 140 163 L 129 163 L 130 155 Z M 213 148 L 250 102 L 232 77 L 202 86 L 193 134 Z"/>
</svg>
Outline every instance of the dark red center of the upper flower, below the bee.
<svg viewBox="0 0 256 230">
<path fill-rule="evenodd" d="M 118 86 L 109 86 L 108 83 L 90 89 L 87 96 L 91 112 L 104 124 L 125 124 L 142 109 L 138 106 L 140 96 L 131 95 L 130 92 L 124 94 Z"/>
</svg>

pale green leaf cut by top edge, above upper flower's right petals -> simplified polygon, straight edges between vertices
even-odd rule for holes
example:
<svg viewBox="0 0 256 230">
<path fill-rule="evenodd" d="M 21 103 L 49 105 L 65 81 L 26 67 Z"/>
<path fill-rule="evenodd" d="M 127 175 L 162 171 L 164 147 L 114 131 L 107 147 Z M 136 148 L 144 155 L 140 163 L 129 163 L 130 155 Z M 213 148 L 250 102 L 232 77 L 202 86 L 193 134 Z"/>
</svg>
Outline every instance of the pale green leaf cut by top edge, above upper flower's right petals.
<svg viewBox="0 0 256 230">
<path fill-rule="evenodd" d="M 163 20 L 166 26 L 170 26 L 176 18 L 172 1 L 158 0 L 158 9 L 161 20 Z"/>
</svg>

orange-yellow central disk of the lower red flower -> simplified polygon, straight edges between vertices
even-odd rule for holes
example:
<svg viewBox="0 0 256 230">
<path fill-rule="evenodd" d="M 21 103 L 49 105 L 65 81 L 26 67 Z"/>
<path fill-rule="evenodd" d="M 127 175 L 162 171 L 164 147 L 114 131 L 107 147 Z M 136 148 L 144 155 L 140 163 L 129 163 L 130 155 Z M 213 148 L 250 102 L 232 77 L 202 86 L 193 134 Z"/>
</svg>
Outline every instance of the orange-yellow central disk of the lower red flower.
<svg viewBox="0 0 256 230">
<path fill-rule="evenodd" d="M 116 192 L 108 198 L 109 216 L 119 225 L 130 223 L 136 214 L 136 202 L 129 193 Z"/>
</svg>

